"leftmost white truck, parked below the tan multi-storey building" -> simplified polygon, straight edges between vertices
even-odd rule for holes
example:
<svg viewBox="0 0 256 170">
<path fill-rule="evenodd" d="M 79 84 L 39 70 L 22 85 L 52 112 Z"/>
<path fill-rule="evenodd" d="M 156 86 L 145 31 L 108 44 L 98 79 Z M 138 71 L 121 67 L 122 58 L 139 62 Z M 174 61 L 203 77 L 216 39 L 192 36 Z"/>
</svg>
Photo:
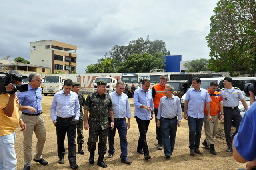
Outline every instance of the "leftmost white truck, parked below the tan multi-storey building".
<svg viewBox="0 0 256 170">
<path fill-rule="evenodd" d="M 60 92 L 63 88 L 64 80 L 61 76 L 45 76 L 44 77 L 44 96 Z"/>
</svg>

